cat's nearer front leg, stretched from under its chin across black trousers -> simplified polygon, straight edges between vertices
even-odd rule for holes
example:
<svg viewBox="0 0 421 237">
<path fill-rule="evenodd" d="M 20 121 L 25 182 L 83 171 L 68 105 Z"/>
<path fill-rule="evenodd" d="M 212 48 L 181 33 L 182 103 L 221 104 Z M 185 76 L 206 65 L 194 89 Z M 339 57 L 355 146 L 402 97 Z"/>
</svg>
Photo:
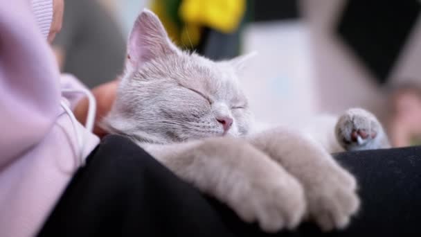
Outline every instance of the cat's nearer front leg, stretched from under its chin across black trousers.
<svg viewBox="0 0 421 237">
<path fill-rule="evenodd" d="M 139 145 L 181 179 L 226 203 L 242 220 L 257 220 L 265 231 L 292 229 L 303 218 L 306 202 L 300 182 L 247 141 L 219 137 Z"/>
</svg>

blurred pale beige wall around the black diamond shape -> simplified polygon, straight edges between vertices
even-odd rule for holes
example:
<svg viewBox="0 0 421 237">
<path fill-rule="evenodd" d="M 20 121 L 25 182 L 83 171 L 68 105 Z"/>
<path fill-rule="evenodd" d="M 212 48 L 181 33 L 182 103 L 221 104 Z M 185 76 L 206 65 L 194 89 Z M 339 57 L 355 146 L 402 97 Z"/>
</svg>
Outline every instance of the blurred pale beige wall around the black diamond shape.
<svg viewBox="0 0 421 237">
<path fill-rule="evenodd" d="M 381 119 L 386 115 L 386 94 L 348 47 L 334 35 L 333 27 L 343 10 L 344 0 L 303 0 L 302 10 L 310 28 L 312 62 L 319 110 L 340 113 L 348 107 L 366 107 Z M 421 19 L 397 67 L 391 83 L 407 78 L 421 81 Z"/>
</svg>

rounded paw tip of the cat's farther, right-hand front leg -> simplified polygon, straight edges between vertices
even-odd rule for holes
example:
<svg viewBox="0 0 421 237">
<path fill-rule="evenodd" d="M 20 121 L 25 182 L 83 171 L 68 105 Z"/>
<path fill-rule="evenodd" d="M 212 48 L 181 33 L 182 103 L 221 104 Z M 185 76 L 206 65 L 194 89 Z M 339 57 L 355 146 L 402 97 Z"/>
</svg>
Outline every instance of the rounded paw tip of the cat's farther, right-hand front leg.
<svg viewBox="0 0 421 237">
<path fill-rule="evenodd" d="M 310 217 L 323 231 L 343 229 L 359 209 L 356 181 L 341 168 L 333 168 L 323 182 L 314 185 L 307 193 Z"/>
</svg>

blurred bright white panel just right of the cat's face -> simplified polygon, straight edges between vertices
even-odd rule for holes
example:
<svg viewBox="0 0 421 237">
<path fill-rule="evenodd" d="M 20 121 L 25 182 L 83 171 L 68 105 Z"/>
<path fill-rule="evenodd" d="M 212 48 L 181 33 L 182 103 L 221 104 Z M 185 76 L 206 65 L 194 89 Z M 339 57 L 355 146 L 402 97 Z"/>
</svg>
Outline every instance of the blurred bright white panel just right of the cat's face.
<svg viewBox="0 0 421 237">
<path fill-rule="evenodd" d="M 245 52 L 258 51 L 243 85 L 256 119 L 293 123 L 315 113 L 309 30 L 300 21 L 251 24 L 244 32 Z"/>
</svg>

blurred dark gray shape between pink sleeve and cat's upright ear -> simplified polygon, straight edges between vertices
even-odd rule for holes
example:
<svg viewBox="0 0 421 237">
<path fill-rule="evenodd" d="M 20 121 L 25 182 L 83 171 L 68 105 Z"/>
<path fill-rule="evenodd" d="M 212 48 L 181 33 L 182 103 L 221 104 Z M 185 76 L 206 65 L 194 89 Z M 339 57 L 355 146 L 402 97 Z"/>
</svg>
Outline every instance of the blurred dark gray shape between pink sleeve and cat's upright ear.
<svg viewBox="0 0 421 237">
<path fill-rule="evenodd" d="M 62 31 L 53 46 L 62 71 L 88 87 L 114 80 L 123 71 L 126 42 L 111 12 L 97 1 L 66 1 Z"/>
</svg>

